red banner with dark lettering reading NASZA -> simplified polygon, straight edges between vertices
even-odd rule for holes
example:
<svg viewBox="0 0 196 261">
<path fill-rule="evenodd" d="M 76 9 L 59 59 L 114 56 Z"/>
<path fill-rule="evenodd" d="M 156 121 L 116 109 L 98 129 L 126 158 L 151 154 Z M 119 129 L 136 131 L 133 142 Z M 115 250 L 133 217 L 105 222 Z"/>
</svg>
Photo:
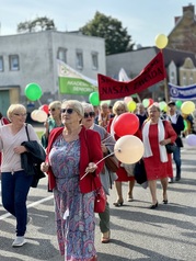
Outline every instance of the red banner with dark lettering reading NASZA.
<svg viewBox="0 0 196 261">
<path fill-rule="evenodd" d="M 103 75 L 97 75 L 100 100 L 113 100 L 143 91 L 164 80 L 165 70 L 163 54 L 160 52 L 142 71 L 131 81 L 116 81 Z"/>
</svg>

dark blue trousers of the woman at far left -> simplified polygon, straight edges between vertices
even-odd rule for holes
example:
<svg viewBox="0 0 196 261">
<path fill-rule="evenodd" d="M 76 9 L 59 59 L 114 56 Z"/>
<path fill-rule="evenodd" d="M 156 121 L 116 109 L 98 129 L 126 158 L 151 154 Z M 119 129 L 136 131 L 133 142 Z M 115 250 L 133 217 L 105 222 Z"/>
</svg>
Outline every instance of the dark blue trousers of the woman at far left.
<svg viewBox="0 0 196 261">
<path fill-rule="evenodd" d="M 23 170 L 1 173 L 2 204 L 16 218 L 16 236 L 26 231 L 26 200 L 32 180 L 33 175 L 26 175 Z"/>
</svg>

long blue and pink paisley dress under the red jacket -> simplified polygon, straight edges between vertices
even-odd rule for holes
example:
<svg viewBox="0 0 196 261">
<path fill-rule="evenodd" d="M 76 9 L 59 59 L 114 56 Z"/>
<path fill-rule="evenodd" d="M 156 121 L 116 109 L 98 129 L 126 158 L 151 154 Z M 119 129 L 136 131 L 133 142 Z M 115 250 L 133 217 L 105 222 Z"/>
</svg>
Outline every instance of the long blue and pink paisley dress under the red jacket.
<svg viewBox="0 0 196 261">
<path fill-rule="evenodd" d="M 57 183 L 54 198 L 60 253 L 70 261 L 94 260 L 94 192 L 80 192 L 80 140 L 67 143 L 60 135 L 49 160 Z"/>
</svg>

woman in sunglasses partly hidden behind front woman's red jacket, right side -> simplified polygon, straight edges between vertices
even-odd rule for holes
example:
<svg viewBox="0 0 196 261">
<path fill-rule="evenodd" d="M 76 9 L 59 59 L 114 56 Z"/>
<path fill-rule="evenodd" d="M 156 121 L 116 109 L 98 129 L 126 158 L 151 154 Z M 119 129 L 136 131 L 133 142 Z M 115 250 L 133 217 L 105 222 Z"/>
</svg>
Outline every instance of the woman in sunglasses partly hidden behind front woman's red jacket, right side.
<svg viewBox="0 0 196 261">
<path fill-rule="evenodd" d="M 115 145 L 114 138 L 111 136 L 109 133 L 107 133 L 107 130 L 104 127 L 94 124 L 95 113 L 93 106 L 89 103 L 82 103 L 82 105 L 84 109 L 84 117 L 82 120 L 83 126 L 87 129 L 93 129 L 100 134 L 102 140 L 103 155 L 109 155 L 114 152 L 114 145 Z M 104 168 L 100 177 L 105 194 L 109 195 L 109 189 L 112 188 L 114 181 L 117 179 L 116 173 L 109 171 L 104 164 Z M 111 240 L 111 224 L 109 224 L 111 215 L 108 202 L 106 202 L 105 211 L 103 213 L 99 213 L 99 217 L 100 217 L 100 230 L 102 232 L 101 242 L 107 243 Z"/>
</svg>

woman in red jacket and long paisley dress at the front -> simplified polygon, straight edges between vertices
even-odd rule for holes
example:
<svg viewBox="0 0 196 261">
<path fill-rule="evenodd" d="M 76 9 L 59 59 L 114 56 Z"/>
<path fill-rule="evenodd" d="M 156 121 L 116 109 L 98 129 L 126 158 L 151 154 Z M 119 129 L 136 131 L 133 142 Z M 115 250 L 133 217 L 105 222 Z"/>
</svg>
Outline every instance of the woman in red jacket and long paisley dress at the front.
<svg viewBox="0 0 196 261">
<path fill-rule="evenodd" d="M 100 135 L 81 125 L 84 111 L 79 101 L 61 104 L 65 127 L 51 130 L 47 160 L 42 170 L 48 173 L 54 190 L 57 238 L 65 260 L 96 260 L 94 247 L 95 188 L 101 188 L 103 158 Z M 85 173 L 89 172 L 87 175 Z M 84 178 L 83 178 L 84 177 Z"/>
</svg>

